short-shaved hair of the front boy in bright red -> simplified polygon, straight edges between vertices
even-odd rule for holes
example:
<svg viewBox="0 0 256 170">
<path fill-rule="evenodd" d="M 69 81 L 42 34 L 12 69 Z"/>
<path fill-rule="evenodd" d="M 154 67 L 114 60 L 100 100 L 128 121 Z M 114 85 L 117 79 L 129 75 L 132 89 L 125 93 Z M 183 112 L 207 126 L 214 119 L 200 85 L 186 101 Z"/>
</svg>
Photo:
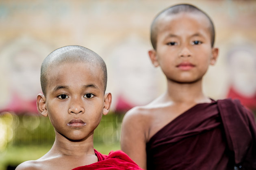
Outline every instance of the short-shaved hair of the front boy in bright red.
<svg viewBox="0 0 256 170">
<path fill-rule="evenodd" d="M 46 87 L 49 83 L 47 79 L 48 72 L 51 68 L 59 66 L 64 63 L 74 62 L 87 62 L 91 63 L 95 67 L 102 70 L 102 84 L 104 86 L 104 92 L 107 84 L 107 71 L 104 60 L 95 52 L 85 47 L 77 45 L 69 45 L 58 48 L 51 52 L 44 60 L 41 65 L 41 88 L 43 94 L 46 95 Z M 100 76 L 100 75 L 99 75 Z"/>
</svg>

